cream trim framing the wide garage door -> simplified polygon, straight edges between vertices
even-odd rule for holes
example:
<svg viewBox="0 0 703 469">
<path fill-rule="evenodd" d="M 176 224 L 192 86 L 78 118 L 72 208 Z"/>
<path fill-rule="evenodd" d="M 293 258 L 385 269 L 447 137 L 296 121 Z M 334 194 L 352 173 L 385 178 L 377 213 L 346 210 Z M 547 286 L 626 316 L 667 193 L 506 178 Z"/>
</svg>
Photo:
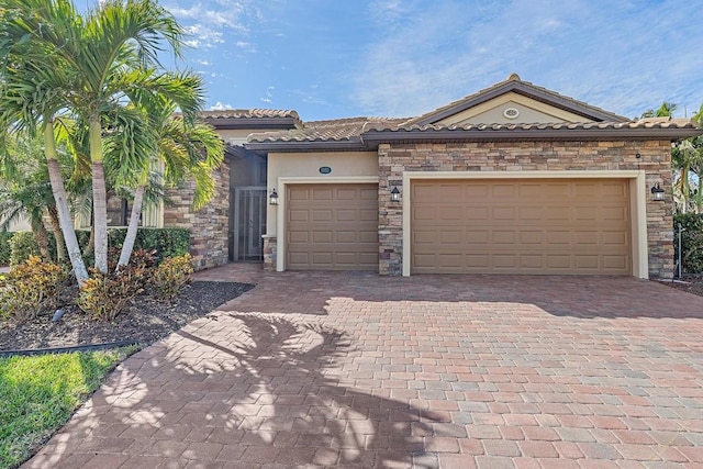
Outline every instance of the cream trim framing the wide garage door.
<svg viewBox="0 0 703 469">
<path fill-rule="evenodd" d="M 629 179 L 633 276 L 649 278 L 647 255 L 647 188 L 644 170 L 560 171 L 405 171 L 403 172 L 403 277 L 410 277 L 411 183 L 417 179 Z"/>
</svg>

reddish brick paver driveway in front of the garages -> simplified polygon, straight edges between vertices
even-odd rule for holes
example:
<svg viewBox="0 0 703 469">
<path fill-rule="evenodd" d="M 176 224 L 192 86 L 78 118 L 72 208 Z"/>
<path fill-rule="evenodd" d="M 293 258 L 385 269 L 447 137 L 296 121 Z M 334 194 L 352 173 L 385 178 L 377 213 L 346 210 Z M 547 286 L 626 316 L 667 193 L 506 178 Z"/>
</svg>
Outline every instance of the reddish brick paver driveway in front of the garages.
<svg viewBox="0 0 703 469">
<path fill-rule="evenodd" d="M 702 467 L 703 298 L 632 278 L 264 275 L 26 466 Z"/>
</svg>

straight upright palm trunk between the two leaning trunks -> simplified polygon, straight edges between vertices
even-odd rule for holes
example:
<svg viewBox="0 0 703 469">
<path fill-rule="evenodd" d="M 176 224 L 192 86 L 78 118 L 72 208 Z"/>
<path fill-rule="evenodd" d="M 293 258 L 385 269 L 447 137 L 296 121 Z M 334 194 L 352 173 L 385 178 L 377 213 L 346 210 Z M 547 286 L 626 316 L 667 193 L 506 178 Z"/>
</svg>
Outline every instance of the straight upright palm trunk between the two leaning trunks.
<svg viewBox="0 0 703 469">
<path fill-rule="evenodd" d="M 108 194 L 102 165 L 100 116 L 90 118 L 90 160 L 92 174 L 92 216 L 96 230 L 96 269 L 108 273 Z"/>
</svg>

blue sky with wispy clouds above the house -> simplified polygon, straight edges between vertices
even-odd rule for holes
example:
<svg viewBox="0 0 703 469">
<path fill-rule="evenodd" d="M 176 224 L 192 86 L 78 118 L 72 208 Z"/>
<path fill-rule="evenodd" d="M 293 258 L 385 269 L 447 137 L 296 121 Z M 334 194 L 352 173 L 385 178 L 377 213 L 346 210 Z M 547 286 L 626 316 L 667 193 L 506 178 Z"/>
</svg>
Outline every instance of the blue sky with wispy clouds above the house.
<svg viewBox="0 0 703 469">
<path fill-rule="evenodd" d="M 161 0 L 209 109 L 412 116 L 517 72 L 631 118 L 703 103 L 703 5 L 628 0 Z"/>
</svg>

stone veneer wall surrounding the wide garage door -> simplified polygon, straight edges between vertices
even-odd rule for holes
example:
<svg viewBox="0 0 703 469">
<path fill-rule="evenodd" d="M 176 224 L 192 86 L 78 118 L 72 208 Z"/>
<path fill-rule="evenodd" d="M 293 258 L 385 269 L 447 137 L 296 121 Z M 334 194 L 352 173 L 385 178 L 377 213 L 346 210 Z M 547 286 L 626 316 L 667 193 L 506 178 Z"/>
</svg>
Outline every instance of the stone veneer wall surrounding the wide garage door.
<svg viewBox="0 0 703 469">
<path fill-rule="evenodd" d="M 639 153 L 640 158 L 635 155 Z M 403 209 L 391 203 L 390 188 L 402 193 L 404 171 L 645 170 L 647 190 L 655 182 L 666 200 L 647 193 L 649 276 L 673 275 L 671 143 L 627 142 L 487 142 L 381 144 L 379 155 L 379 273 L 402 275 Z"/>
</svg>

